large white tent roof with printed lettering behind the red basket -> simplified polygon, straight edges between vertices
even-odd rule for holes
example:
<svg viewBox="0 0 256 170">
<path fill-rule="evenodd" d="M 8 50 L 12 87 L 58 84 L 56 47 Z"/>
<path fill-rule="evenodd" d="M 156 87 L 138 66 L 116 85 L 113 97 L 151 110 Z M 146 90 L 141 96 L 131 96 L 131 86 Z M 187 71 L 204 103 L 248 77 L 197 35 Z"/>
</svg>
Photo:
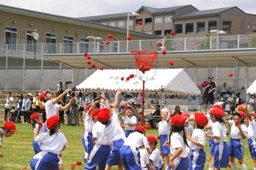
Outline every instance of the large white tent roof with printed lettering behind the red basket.
<svg viewBox="0 0 256 170">
<path fill-rule="evenodd" d="M 140 72 L 141 73 L 141 72 Z M 126 81 L 126 77 L 134 74 L 134 78 Z M 143 75 L 143 74 L 142 74 Z M 140 76 L 140 75 L 139 75 Z M 145 82 L 145 90 L 154 91 L 164 88 L 181 94 L 199 95 L 201 92 L 197 85 L 190 79 L 190 76 L 183 69 L 151 69 L 145 75 L 151 77 Z M 124 77 L 122 81 L 120 78 Z M 91 76 L 77 86 L 78 89 L 104 89 L 116 90 L 142 90 L 142 80 L 137 76 L 136 69 L 130 70 L 96 70 Z"/>
</svg>

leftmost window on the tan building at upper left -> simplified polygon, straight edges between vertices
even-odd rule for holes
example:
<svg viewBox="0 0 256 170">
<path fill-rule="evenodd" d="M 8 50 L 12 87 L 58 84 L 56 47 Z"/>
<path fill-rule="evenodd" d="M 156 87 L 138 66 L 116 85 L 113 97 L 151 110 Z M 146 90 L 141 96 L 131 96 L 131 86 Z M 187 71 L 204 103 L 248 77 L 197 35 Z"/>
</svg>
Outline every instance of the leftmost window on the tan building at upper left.
<svg viewBox="0 0 256 170">
<path fill-rule="evenodd" d="M 16 49 L 17 28 L 5 27 L 5 44 L 8 44 L 8 49 Z"/>
</svg>

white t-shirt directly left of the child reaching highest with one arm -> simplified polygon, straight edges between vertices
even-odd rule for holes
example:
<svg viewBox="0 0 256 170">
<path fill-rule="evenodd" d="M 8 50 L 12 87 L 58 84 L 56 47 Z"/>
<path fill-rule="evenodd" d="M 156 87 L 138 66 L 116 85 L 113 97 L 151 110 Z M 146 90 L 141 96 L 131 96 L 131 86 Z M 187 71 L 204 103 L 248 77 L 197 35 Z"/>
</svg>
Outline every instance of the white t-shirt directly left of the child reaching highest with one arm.
<svg viewBox="0 0 256 170">
<path fill-rule="evenodd" d="M 93 138 L 97 138 L 95 141 L 98 145 L 111 145 L 111 141 L 109 141 L 104 134 L 105 125 L 97 121 L 93 125 Z"/>
</svg>

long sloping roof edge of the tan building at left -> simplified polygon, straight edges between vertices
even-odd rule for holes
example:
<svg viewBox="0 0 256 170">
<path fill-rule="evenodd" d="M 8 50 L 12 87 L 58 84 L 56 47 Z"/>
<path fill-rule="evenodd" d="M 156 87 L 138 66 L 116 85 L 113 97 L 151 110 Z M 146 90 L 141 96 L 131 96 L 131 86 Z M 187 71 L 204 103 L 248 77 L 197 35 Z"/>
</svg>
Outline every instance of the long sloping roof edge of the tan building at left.
<svg viewBox="0 0 256 170">
<path fill-rule="evenodd" d="M 0 4 L 0 11 L 4 11 L 7 13 L 16 13 L 18 15 L 30 16 L 30 17 L 35 17 L 35 18 L 39 18 L 39 19 L 48 19 L 48 20 L 52 20 L 52 21 L 56 21 L 56 22 L 64 22 L 67 24 L 81 25 L 81 26 L 86 26 L 89 28 L 98 28 L 98 29 L 102 29 L 105 31 L 116 31 L 119 33 L 126 34 L 126 29 L 123 29 L 123 28 L 102 25 L 102 24 L 99 24 L 96 22 L 91 22 L 91 21 L 82 21 L 81 19 L 75 19 L 75 18 L 68 17 L 68 16 L 59 16 L 59 15 L 53 15 L 50 13 L 41 13 L 41 12 L 38 12 L 35 10 L 26 10 L 23 8 L 11 7 L 11 6 L 7 6 L 7 5 L 3 5 L 3 4 Z M 155 35 L 144 34 L 144 33 L 137 32 L 137 31 L 130 31 L 130 34 L 142 36 L 142 37 L 154 38 L 154 39 L 160 38 Z"/>
</svg>

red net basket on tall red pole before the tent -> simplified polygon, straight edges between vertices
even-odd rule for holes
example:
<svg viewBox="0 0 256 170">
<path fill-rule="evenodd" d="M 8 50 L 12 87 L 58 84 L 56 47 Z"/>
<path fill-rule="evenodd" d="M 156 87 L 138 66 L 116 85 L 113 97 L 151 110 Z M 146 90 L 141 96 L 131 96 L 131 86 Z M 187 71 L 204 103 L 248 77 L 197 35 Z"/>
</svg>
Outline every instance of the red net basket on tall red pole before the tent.
<svg viewBox="0 0 256 170">
<path fill-rule="evenodd" d="M 153 76 L 140 76 L 140 73 L 147 73 L 152 67 L 157 68 L 157 51 L 132 51 L 136 60 L 137 76 L 142 80 L 142 126 L 144 126 L 144 110 L 145 110 L 145 81 L 152 79 Z M 155 65 L 153 65 L 155 63 Z"/>
</svg>

